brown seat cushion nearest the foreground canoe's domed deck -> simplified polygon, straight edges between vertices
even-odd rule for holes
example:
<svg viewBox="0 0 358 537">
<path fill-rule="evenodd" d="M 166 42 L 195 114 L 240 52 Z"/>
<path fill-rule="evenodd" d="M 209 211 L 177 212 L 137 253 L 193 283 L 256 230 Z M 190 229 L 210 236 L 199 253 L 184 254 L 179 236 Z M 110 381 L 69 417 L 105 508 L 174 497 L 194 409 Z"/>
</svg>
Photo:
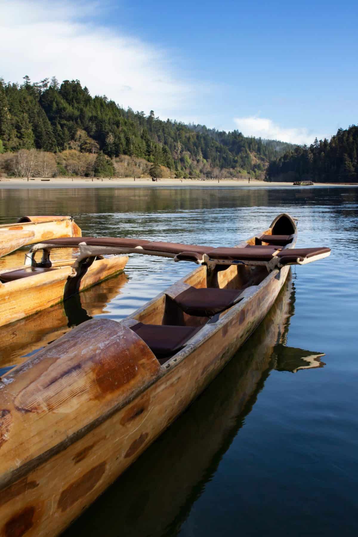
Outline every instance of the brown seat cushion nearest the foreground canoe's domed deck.
<svg viewBox="0 0 358 537">
<path fill-rule="evenodd" d="M 200 326 L 170 326 L 166 324 L 137 323 L 131 330 L 147 343 L 157 358 L 166 358 L 180 351 Z"/>
</svg>

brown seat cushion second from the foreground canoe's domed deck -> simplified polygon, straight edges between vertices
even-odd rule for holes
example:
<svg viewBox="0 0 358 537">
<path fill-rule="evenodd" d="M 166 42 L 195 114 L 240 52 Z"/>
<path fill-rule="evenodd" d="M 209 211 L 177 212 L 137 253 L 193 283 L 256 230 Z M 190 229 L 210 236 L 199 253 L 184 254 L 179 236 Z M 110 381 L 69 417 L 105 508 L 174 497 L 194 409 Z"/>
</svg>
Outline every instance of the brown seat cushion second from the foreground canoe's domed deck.
<svg viewBox="0 0 358 537">
<path fill-rule="evenodd" d="M 241 293 L 238 289 L 190 287 L 177 295 L 174 302 L 188 315 L 212 317 L 231 308 Z"/>
</svg>

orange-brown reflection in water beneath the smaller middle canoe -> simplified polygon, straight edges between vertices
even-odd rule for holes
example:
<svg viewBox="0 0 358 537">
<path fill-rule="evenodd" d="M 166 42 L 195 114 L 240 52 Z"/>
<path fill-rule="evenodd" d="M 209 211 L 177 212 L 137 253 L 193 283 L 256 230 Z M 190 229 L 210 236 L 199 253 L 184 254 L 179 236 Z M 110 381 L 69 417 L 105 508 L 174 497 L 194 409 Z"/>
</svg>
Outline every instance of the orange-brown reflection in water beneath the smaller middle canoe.
<svg viewBox="0 0 358 537">
<path fill-rule="evenodd" d="M 127 279 L 125 273 L 118 274 L 52 308 L 0 326 L 0 374 L 21 364 L 26 355 L 48 345 L 72 326 L 106 313 L 107 304 L 121 293 Z"/>
</svg>

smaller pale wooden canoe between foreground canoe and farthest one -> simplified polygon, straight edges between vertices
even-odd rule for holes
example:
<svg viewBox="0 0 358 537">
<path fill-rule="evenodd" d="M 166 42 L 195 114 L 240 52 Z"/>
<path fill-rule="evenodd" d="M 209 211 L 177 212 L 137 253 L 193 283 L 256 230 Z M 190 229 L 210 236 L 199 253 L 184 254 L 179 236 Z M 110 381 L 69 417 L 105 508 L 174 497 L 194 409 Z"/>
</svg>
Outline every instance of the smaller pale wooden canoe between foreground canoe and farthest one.
<svg viewBox="0 0 358 537">
<path fill-rule="evenodd" d="M 81 278 L 76 279 L 77 286 L 72 285 L 68 291 L 75 259 L 69 255 L 69 249 L 64 251 L 68 258 L 64 261 L 57 259 L 50 267 L 23 265 L 0 273 L 0 326 L 38 313 L 62 302 L 67 296 L 119 274 L 128 262 L 128 256 L 94 256 Z"/>
</svg>

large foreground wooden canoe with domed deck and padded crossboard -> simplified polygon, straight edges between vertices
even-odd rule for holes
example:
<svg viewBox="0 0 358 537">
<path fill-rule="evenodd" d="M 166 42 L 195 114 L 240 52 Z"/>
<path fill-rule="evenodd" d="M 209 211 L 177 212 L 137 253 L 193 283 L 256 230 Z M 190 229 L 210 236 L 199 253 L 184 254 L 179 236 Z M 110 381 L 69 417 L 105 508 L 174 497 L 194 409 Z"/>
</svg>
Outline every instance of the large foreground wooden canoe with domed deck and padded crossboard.
<svg viewBox="0 0 358 537">
<path fill-rule="evenodd" d="M 61 533 L 138 458 L 257 328 L 289 266 L 330 253 L 296 238 L 279 215 L 237 248 L 121 240 L 121 253 L 200 266 L 127 319 L 84 322 L 2 377 L 3 535 Z M 119 253 L 116 241 L 86 238 L 76 270 L 96 248 Z"/>
</svg>

